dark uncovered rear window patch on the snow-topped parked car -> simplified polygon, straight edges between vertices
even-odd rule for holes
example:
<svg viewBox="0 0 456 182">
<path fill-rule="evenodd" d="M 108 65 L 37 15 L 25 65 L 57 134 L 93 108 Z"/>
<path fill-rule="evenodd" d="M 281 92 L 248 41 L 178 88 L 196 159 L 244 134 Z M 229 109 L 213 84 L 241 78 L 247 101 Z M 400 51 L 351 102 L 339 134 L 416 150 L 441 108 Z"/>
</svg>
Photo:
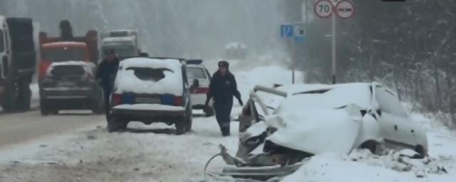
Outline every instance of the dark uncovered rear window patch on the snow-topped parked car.
<svg viewBox="0 0 456 182">
<path fill-rule="evenodd" d="M 139 68 L 129 67 L 126 70 L 133 70 L 135 76 L 140 80 L 154 81 L 157 82 L 165 78 L 165 72 L 169 71 L 174 73 L 172 70 L 167 68 Z"/>
</svg>

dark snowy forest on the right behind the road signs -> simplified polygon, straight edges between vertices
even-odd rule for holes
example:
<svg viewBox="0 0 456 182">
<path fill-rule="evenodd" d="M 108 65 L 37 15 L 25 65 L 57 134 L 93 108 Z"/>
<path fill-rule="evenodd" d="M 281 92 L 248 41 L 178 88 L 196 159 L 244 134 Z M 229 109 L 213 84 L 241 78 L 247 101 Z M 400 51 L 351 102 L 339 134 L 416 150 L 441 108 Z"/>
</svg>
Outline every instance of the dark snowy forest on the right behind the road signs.
<svg viewBox="0 0 456 182">
<path fill-rule="evenodd" d="M 289 1 L 289 6 L 299 3 Z M 380 80 L 415 111 L 437 114 L 455 126 L 456 2 L 353 3 L 353 18 L 338 18 L 337 23 L 338 82 Z M 329 83 L 331 18 L 313 17 L 308 31 L 308 42 L 300 48 L 300 66 L 307 82 Z"/>
</svg>

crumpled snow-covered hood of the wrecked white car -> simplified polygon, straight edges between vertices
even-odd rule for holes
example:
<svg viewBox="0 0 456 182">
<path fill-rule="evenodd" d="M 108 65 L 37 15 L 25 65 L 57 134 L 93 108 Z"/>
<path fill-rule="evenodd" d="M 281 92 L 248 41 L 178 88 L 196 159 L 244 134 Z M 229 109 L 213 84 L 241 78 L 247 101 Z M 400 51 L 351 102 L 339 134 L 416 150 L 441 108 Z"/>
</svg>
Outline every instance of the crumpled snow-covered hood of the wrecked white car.
<svg viewBox="0 0 456 182">
<path fill-rule="evenodd" d="M 354 107 L 349 105 L 343 109 L 308 111 L 295 109 L 295 112 L 281 112 L 267 117 L 266 124 L 277 130 L 266 140 L 311 154 L 348 154 L 361 127 L 361 114 Z"/>
</svg>

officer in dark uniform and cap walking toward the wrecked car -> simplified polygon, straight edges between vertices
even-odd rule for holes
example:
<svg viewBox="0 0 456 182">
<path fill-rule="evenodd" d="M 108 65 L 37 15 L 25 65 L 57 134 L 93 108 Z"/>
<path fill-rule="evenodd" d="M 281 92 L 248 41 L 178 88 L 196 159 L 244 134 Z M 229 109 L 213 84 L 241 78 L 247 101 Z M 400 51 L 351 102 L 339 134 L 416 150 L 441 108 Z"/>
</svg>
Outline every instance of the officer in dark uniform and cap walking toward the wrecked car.
<svg viewBox="0 0 456 182">
<path fill-rule="evenodd" d="M 239 105 L 244 105 L 241 93 L 237 90 L 237 83 L 234 75 L 229 72 L 229 63 L 220 61 L 219 70 L 212 76 L 207 93 L 206 106 L 209 100 L 214 98 L 214 109 L 217 122 L 219 123 L 222 136 L 229 136 L 229 122 L 233 107 L 233 96 L 237 98 Z"/>
</svg>

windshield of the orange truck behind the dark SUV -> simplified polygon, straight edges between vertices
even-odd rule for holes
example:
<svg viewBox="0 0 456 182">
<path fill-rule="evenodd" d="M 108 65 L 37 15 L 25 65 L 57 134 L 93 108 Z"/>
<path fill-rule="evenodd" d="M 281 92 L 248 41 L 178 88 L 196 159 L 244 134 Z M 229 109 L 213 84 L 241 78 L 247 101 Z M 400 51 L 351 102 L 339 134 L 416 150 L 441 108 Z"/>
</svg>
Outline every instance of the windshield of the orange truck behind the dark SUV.
<svg viewBox="0 0 456 182">
<path fill-rule="evenodd" d="M 62 62 L 68 60 L 86 60 L 86 51 L 81 48 L 51 48 L 43 50 L 43 60 Z"/>
</svg>

